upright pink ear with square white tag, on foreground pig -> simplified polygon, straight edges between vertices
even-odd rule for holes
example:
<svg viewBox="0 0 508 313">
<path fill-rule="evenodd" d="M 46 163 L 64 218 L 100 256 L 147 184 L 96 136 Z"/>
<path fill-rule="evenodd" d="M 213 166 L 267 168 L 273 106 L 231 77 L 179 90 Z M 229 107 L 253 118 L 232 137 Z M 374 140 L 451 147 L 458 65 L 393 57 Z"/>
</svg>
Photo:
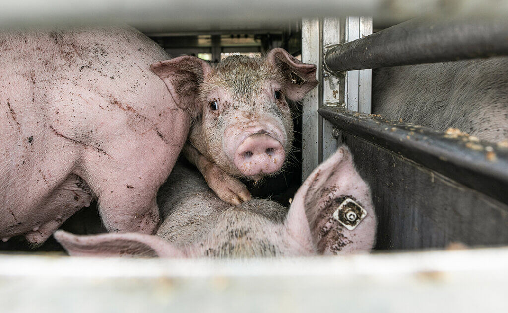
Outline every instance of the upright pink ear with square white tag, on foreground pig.
<svg viewBox="0 0 508 313">
<path fill-rule="evenodd" d="M 321 254 L 370 251 L 376 231 L 370 190 L 345 146 L 304 181 L 286 223 L 293 233 L 308 234 Z"/>
</svg>

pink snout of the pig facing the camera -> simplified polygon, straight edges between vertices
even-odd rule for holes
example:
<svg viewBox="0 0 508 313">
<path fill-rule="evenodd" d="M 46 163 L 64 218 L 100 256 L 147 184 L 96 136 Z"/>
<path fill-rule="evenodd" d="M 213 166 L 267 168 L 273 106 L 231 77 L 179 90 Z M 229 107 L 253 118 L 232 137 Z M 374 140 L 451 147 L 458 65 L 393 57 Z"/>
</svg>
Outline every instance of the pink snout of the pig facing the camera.
<svg viewBox="0 0 508 313">
<path fill-rule="evenodd" d="M 238 145 L 233 162 L 243 175 L 255 176 L 278 171 L 284 158 L 284 148 L 277 139 L 253 134 Z"/>
</svg>

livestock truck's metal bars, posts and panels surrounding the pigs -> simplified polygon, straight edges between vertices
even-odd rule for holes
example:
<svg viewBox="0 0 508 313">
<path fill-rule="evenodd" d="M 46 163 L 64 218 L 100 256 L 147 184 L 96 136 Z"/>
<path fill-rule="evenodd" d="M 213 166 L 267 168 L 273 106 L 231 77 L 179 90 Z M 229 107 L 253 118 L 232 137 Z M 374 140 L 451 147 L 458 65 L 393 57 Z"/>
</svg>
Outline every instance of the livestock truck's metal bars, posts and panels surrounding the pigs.
<svg viewBox="0 0 508 313">
<path fill-rule="evenodd" d="M 11 238 L 0 242 L 3 311 L 508 311 L 508 145 L 372 114 L 371 101 L 384 77 L 372 69 L 506 55 L 507 14 L 508 2 L 473 0 L 3 4 L 4 29 L 128 23 L 173 56 L 283 47 L 316 65 L 292 165 L 252 195 L 288 205 L 345 144 L 377 218 L 372 253 L 334 257 L 76 258 L 52 238 Z M 96 215 L 83 209 L 63 227 Z"/>
</svg>

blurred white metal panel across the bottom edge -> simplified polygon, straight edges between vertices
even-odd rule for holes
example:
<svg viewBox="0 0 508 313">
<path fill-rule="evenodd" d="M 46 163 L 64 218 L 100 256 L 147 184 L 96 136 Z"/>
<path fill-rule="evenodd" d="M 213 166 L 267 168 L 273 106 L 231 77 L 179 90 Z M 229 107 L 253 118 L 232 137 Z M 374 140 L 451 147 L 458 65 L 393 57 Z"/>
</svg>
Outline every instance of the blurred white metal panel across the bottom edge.
<svg viewBox="0 0 508 313">
<path fill-rule="evenodd" d="M 506 312 L 508 248 L 299 259 L 0 257 L 3 312 Z"/>
</svg>

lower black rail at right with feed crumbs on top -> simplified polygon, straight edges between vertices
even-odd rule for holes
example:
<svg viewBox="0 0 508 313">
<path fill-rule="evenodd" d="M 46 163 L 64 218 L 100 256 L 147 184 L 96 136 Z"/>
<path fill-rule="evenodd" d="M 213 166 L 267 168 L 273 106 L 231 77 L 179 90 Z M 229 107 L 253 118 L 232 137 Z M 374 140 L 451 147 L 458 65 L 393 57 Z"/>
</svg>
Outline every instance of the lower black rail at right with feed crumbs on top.
<svg viewBox="0 0 508 313">
<path fill-rule="evenodd" d="M 342 108 L 320 108 L 319 112 L 345 133 L 508 204 L 508 147 L 505 145 L 479 141 L 457 130 L 436 132 Z"/>
</svg>

